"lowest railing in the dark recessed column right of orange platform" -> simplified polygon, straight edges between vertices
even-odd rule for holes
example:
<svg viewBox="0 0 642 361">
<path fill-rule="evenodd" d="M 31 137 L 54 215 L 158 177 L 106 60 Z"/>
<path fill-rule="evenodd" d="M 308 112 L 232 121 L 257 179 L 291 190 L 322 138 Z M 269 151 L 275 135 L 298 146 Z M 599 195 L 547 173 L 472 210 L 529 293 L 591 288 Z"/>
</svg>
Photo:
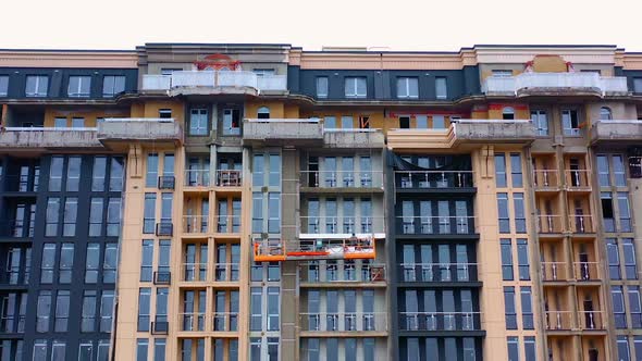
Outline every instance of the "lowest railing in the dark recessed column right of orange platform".
<svg viewBox="0 0 642 361">
<path fill-rule="evenodd" d="M 480 329 L 480 312 L 399 312 L 404 331 L 474 331 Z"/>
</svg>

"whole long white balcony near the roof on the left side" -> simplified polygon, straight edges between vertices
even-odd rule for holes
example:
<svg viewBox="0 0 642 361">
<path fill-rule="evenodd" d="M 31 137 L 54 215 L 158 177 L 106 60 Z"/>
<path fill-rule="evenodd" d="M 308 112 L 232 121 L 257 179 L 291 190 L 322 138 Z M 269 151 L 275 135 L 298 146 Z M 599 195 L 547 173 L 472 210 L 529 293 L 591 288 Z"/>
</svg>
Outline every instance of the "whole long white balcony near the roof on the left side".
<svg viewBox="0 0 642 361">
<path fill-rule="evenodd" d="M 143 91 L 170 95 L 250 95 L 287 91 L 286 75 L 259 76 L 252 72 L 185 71 L 171 75 L 143 75 Z"/>
</svg>

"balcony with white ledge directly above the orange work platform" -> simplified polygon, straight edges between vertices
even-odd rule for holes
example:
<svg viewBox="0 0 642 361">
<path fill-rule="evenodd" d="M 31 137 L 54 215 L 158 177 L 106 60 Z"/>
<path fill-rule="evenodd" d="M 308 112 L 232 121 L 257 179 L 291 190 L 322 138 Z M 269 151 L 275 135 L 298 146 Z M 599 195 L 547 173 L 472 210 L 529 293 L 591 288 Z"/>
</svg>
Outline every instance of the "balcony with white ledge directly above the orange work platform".
<svg viewBox="0 0 642 361">
<path fill-rule="evenodd" d="M 383 216 L 301 216 L 299 237 L 349 238 L 353 235 L 385 237 Z"/>
</svg>

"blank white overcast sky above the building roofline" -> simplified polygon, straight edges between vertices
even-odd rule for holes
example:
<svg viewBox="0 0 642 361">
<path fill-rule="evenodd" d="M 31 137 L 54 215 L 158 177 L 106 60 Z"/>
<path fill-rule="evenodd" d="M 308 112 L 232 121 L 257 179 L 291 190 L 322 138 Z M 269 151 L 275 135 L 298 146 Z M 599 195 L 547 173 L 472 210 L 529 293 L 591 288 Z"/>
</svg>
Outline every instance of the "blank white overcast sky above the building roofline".
<svg viewBox="0 0 642 361">
<path fill-rule="evenodd" d="M 285 42 L 458 50 L 607 43 L 642 51 L 641 0 L 1 0 L 0 48 Z"/>
</svg>

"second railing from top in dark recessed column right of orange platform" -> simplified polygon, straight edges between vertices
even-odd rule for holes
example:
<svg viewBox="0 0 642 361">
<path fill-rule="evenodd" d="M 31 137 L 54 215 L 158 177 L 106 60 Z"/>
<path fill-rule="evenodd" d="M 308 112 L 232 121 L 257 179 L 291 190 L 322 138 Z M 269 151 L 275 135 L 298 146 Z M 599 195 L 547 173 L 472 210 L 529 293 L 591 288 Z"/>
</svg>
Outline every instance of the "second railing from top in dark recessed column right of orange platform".
<svg viewBox="0 0 642 361">
<path fill-rule="evenodd" d="M 397 216 L 400 235 L 472 235 L 474 215 Z"/>
</svg>

